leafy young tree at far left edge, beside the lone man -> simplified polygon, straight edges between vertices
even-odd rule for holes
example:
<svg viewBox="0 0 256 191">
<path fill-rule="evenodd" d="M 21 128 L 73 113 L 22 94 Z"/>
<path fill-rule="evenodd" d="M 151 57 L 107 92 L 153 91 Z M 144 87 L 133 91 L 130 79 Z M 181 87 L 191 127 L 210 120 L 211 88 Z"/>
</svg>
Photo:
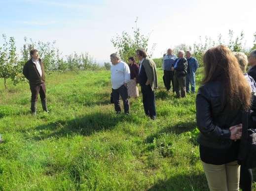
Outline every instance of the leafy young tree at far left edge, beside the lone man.
<svg viewBox="0 0 256 191">
<path fill-rule="evenodd" d="M 7 79 L 11 79 L 14 84 L 18 82 L 22 69 L 18 63 L 14 37 L 7 41 L 6 35 L 2 35 L 3 45 L 0 47 L 0 78 L 4 79 L 4 87 L 7 91 Z"/>
</svg>

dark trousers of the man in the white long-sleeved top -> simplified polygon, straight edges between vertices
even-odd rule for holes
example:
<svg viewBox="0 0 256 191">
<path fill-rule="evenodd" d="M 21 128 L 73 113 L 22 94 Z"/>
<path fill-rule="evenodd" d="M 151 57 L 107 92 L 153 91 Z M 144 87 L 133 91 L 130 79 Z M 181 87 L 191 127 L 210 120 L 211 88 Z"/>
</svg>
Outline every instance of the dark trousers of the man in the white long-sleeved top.
<svg viewBox="0 0 256 191">
<path fill-rule="evenodd" d="M 122 85 L 118 89 L 112 89 L 112 96 L 114 101 L 114 109 L 116 112 L 121 112 L 120 96 L 123 100 L 124 112 L 129 113 L 129 100 L 127 87 Z"/>
</svg>

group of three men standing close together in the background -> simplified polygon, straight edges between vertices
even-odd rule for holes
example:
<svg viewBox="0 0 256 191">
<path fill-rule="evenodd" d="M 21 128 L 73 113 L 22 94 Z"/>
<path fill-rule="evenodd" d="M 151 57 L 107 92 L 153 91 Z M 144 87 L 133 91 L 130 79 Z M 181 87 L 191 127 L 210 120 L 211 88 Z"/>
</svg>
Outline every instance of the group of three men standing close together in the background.
<svg viewBox="0 0 256 191">
<path fill-rule="evenodd" d="M 173 54 L 172 49 L 167 50 L 163 56 L 163 82 L 167 91 L 171 86 L 173 93 L 176 92 L 178 98 L 185 97 L 186 93 L 195 93 L 195 73 L 198 68 L 198 62 L 191 56 L 190 51 L 179 51 L 178 57 Z"/>
</svg>

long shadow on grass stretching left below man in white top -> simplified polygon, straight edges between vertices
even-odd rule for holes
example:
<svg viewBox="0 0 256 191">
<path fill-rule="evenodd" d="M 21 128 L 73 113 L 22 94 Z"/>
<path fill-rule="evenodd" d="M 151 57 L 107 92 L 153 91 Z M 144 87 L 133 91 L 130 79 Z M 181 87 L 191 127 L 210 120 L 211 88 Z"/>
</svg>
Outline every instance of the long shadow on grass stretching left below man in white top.
<svg viewBox="0 0 256 191">
<path fill-rule="evenodd" d="M 34 139 L 58 138 L 63 136 L 83 135 L 90 136 L 95 132 L 111 130 L 123 121 L 134 122 L 133 117 L 125 114 L 91 113 L 69 121 L 56 121 L 36 127 L 39 133 Z"/>
</svg>

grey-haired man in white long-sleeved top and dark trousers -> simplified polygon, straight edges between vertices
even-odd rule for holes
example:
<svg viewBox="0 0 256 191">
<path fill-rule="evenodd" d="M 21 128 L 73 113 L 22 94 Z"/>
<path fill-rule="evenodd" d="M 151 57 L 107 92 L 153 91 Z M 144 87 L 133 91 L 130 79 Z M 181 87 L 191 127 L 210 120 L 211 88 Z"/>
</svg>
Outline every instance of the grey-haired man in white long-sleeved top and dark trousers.
<svg viewBox="0 0 256 191">
<path fill-rule="evenodd" d="M 127 83 L 130 81 L 130 68 L 128 64 L 120 60 L 120 56 L 116 53 L 110 55 L 111 60 L 111 83 L 112 83 L 112 97 L 114 102 L 114 109 L 116 113 L 121 112 L 120 96 L 123 100 L 124 112 L 129 113 L 129 100 Z"/>
</svg>

